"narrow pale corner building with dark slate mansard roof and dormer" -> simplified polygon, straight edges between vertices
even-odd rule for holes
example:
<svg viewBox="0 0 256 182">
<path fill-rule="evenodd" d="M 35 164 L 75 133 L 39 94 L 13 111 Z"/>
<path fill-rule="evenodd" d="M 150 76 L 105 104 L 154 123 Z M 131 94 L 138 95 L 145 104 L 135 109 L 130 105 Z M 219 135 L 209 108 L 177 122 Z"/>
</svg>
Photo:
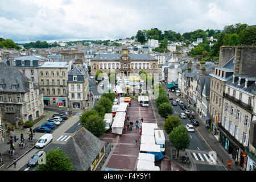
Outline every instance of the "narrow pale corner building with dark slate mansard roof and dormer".
<svg viewBox="0 0 256 182">
<path fill-rule="evenodd" d="M 68 107 L 80 109 L 86 107 L 89 92 L 88 69 L 76 65 L 68 73 Z"/>
</svg>

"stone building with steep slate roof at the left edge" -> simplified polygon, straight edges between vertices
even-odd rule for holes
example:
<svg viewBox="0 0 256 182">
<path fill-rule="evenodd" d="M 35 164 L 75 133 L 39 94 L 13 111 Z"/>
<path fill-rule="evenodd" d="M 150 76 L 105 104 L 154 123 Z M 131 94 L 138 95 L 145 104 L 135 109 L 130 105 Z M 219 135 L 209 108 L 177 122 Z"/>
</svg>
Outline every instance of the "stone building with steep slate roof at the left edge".
<svg viewBox="0 0 256 182">
<path fill-rule="evenodd" d="M 2 119 L 18 127 L 17 119 L 34 121 L 44 113 L 43 93 L 18 69 L 0 63 L 0 108 Z"/>
</svg>

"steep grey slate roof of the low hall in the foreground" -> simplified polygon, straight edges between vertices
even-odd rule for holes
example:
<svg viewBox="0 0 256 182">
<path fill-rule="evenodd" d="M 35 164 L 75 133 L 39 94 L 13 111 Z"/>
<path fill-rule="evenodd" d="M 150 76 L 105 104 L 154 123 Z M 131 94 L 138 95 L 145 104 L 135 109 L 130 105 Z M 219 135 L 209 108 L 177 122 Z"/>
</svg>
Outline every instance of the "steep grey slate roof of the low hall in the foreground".
<svg viewBox="0 0 256 182">
<path fill-rule="evenodd" d="M 105 142 L 82 127 L 65 144 L 63 151 L 71 158 L 75 171 L 87 171 L 104 145 Z"/>
</svg>

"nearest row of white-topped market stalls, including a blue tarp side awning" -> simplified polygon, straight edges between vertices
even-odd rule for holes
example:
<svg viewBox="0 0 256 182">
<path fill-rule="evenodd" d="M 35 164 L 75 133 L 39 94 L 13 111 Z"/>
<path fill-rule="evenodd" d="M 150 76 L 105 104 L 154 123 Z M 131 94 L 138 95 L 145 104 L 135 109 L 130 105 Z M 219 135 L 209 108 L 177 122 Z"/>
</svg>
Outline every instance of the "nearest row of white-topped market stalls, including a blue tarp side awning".
<svg viewBox="0 0 256 182">
<path fill-rule="evenodd" d="M 163 154 L 160 145 L 155 142 L 155 129 L 158 129 L 156 123 L 142 123 L 137 171 L 160 171 L 160 168 L 155 166 L 155 161 L 163 159 Z"/>
</svg>

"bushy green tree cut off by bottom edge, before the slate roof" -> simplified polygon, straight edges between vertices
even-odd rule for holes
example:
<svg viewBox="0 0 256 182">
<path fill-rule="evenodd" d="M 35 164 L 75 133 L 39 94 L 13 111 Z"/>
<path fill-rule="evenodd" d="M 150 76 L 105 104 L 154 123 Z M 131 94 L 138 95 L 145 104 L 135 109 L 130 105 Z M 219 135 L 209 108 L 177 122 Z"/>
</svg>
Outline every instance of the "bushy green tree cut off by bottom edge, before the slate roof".
<svg viewBox="0 0 256 182">
<path fill-rule="evenodd" d="M 73 171 L 73 163 L 61 148 L 46 153 L 46 164 L 38 164 L 36 171 Z"/>
</svg>

